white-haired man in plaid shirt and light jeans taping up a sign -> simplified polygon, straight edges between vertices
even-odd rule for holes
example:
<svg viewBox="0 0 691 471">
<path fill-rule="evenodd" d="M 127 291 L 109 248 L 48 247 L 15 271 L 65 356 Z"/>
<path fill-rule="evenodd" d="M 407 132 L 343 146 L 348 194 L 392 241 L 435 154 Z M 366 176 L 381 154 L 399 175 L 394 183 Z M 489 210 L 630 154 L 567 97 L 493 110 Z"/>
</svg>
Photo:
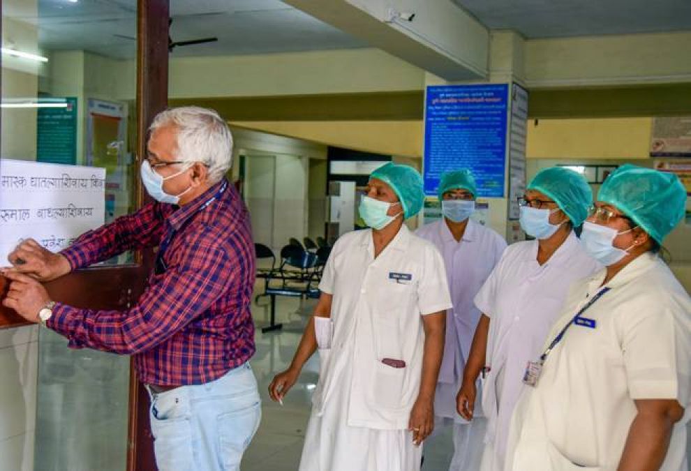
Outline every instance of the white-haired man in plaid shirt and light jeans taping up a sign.
<svg viewBox="0 0 691 471">
<path fill-rule="evenodd" d="M 151 124 L 142 182 L 157 202 L 53 254 L 35 241 L 10 253 L 3 304 L 69 339 L 131 354 L 151 396 L 158 469 L 236 470 L 260 420 L 250 313 L 255 267 L 248 213 L 225 179 L 232 136 L 212 110 L 181 107 Z M 144 294 L 126 311 L 51 301 L 38 281 L 159 246 Z"/>
</svg>

